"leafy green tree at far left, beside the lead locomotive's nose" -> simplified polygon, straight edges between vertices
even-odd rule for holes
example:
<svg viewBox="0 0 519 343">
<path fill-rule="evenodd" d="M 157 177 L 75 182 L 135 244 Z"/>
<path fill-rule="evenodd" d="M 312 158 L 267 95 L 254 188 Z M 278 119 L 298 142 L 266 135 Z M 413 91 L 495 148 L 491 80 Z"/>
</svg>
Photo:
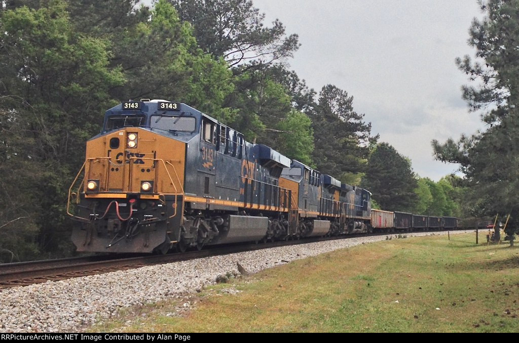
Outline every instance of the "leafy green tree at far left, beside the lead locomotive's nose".
<svg viewBox="0 0 519 343">
<path fill-rule="evenodd" d="M 124 79 L 108 66 L 110 43 L 77 33 L 65 1 L 0 13 L 0 226 L 19 231 L 0 247 L 27 259 L 70 248 L 66 190 Z"/>
</svg>

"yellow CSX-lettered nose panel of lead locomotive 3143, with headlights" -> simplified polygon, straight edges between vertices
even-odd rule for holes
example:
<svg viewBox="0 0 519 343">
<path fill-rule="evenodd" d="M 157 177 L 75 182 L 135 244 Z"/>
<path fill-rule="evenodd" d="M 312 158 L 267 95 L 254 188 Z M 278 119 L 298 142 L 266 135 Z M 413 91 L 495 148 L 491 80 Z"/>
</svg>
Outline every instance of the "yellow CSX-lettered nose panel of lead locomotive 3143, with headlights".
<svg viewBox="0 0 519 343">
<path fill-rule="evenodd" d="M 84 192 L 90 198 L 179 194 L 184 159 L 184 142 L 137 127 L 112 132 L 87 143 L 85 172 L 91 182 L 85 184 Z"/>
</svg>

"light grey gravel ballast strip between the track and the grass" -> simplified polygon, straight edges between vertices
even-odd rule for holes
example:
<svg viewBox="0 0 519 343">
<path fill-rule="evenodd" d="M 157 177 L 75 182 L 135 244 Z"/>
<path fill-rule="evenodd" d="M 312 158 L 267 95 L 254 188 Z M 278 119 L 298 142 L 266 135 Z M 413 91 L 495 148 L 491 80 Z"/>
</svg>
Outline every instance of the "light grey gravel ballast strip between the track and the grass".
<svg viewBox="0 0 519 343">
<path fill-rule="evenodd" d="M 471 231 L 454 233 L 463 232 Z M 75 332 L 99 319 L 116 316 L 121 308 L 194 293 L 215 283 L 218 275 L 239 274 L 238 263 L 247 273 L 256 273 L 308 256 L 385 239 L 385 235 L 345 238 L 3 289 L 0 332 Z"/>
</svg>

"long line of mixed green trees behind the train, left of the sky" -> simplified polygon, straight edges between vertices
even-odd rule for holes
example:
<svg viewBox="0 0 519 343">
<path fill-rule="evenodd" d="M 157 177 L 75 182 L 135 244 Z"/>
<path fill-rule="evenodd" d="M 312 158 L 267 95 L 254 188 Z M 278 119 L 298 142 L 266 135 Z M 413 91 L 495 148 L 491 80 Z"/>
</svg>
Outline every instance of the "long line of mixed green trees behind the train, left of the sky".
<svg viewBox="0 0 519 343">
<path fill-rule="evenodd" d="M 73 253 L 68 188 L 104 111 L 128 99 L 184 102 L 346 183 L 376 170 L 387 145 L 345 90 L 290 69 L 298 36 L 279 20 L 247 0 L 138 3 L 0 1 L 0 262 Z M 427 193 L 411 179 L 400 198 Z M 444 188 L 427 185 L 432 211 Z"/>
</svg>

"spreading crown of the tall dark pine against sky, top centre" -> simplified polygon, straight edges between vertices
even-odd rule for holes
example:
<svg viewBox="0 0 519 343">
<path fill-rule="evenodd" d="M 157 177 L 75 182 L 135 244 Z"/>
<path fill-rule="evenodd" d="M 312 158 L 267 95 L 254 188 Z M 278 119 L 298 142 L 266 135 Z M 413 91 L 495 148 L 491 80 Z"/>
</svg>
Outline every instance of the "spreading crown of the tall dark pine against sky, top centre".
<svg viewBox="0 0 519 343">
<path fill-rule="evenodd" d="M 263 24 L 265 15 L 249 0 L 170 0 L 180 18 L 194 27 L 199 46 L 229 66 L 248 61 L 250 67 L 266 65 L 292 57 L 299 48 L 298 36 L 285 36 L 279 20 L 271 27 Z M 244 72 L 244 70 L 241 70 Z"/>
</svg>

